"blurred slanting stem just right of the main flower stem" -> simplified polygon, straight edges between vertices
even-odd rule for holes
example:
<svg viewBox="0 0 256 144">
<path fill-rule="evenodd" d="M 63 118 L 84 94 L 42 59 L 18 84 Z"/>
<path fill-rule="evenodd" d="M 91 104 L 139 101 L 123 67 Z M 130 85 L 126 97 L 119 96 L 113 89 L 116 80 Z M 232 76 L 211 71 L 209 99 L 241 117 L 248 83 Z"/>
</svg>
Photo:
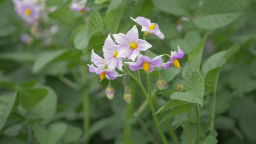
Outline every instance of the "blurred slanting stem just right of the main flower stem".
<svg viewBox="0 0 256 144">
<path fill-rule="evenodd" d="M 156 108 L 160 108 L 161 107 L 160 104 L 159 104 L 159 101 L 157 99 L 155 99 L 154 102 L 155 102 Z M 165 114 L 164 113 L 160 113 L 160 116 L 164 117 Z M 171 139 L 173 140 L 174 144 L 180 144 L 180 140 L 179 140 L 179 138 L 178 138 L 178 136 L 176 134 L 176 131 L 174 130 L 174 128 L 170 124 L 170 122 L 165 121 L 164 123 L 165 123 L 166 128 L 168 129 L 168 133 L 169 133 Z"/>
</svg>

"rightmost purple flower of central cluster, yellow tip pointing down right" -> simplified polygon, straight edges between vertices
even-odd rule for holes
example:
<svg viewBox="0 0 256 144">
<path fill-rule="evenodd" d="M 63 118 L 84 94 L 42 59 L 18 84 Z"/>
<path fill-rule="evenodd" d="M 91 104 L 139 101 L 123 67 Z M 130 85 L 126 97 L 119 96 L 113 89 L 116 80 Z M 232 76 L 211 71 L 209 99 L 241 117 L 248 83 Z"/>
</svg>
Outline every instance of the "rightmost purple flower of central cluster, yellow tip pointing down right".
<svg viewBox="0 0 256 144">
<path fill-rule="evenodd" d="M 183 58 L 183 56 L 184 56 L 184 52 L 178 46 L 178 52 L 171 51 L 170 61 L 167 61 L 166 63 L 164 63 L 163 68 L 166 70 L 166 69 L 170 68 L 172 64 L 174 65 L 174 67 L 180 68 L 180 62 L 178 61 L 178 59 Z"/>
</svg>

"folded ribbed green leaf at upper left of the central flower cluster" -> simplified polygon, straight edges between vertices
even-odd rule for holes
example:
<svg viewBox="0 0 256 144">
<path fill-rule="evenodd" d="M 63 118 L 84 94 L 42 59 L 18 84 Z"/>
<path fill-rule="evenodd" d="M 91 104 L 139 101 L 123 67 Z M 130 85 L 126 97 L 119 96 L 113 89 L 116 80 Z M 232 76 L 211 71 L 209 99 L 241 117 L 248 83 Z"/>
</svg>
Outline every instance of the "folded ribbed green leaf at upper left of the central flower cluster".
<svg viewBox="0 0 256 144">
<path fill-rule="evenodd" d="M 103 21 L 98 11 L 92 12 L 88 21 L 88 27 L 82 29 L 74 38 L 77 49 L 85 49 L 89 45 L 92 35 L 103 31 Z"/>
</svg>

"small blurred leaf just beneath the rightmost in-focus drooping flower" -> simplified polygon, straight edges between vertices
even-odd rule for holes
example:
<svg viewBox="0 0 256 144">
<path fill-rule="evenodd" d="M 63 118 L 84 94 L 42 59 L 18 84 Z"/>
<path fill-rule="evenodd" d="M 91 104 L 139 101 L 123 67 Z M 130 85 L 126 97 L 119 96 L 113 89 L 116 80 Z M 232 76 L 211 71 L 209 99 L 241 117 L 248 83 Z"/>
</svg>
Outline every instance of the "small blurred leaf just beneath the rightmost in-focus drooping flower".
<svg viewBox="0 0 256 144">
<path fill-rule="evenodd" d="M 180 73 L 180 69 L 178 68 L 169 68 L 168 70 L 162 69 L 160 71 L 162 78 L 165 80 L 165 82 L 170 82 L 174 79 L 175 76 L 177 76 Z"/>
</svg>

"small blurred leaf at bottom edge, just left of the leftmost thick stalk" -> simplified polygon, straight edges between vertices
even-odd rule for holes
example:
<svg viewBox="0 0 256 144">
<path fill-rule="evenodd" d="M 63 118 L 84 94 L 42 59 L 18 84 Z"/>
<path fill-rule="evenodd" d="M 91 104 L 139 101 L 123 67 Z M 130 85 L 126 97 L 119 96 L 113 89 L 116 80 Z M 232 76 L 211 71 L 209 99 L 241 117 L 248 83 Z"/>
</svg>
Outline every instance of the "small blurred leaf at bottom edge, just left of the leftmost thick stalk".
<svg viewBox="0 0 256 144">
<path fill-rule="evenodd" d="M 77 126 L 67 125 L 67 130 L 61 138 L 63 144 L 75 143 L 82 135 L 82 129 Z"/>
</svg>

